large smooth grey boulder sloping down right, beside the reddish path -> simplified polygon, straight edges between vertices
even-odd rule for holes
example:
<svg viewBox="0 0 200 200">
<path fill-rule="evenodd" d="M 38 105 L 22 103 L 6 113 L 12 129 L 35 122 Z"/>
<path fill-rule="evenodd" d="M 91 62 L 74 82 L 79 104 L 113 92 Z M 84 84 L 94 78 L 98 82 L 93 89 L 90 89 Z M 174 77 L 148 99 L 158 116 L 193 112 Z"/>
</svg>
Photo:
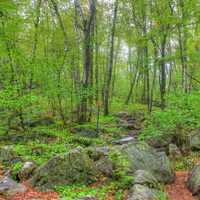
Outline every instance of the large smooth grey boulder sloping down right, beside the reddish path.
<svg viewBox="0 0 200 200">
<path fill-rule="evenodd" d="M 175 179 L 170 161 L 164 152 L 157 152 L 144 142 L 133 142 L 123 145 L 122 154 L 129 163 L 129 171 L 134 174 L 137 170 L 149 171 L 159 182 L 171 183 Z"/>
</svg>

